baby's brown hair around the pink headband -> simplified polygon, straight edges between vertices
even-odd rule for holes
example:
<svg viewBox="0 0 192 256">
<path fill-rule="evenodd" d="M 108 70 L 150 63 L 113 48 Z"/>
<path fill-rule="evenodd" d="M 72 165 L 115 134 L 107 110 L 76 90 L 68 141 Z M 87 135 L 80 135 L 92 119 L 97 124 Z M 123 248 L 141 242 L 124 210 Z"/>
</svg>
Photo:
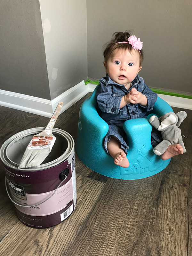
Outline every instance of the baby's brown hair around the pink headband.
<svg viewBox="0 0 192 256">
<path fill-rule="evenodd" d="M 112 52 L 116 49 L 129 50 L 129 52 L 131 53 L 132 50 L 134 49 L 132 48 L 132 45 L 129 44 L 128 42 L 128 38 L 130 36 L 131 36 L 130 31 L 128 30 L 126 30 L 125 32 L 115 32 L 113 34 L 111 41 L 109 41 L 107 44 L 104 45 L 104 51 L 103 51 L 104 61 L 107 62 Z M 126 43 L 120 44 L 119 42 L 128 42 L 128 44 Z M 116 44 L 116 43 L 119 43 L 119 44 Z M 134 51 L 137 51 L 137 50 L 134 50 Z M 139 52 L 140 52 L 140 66 L 141 66 L 144 59 L 144 55 L 142 50 L 140 50 Z"/>
</svg>

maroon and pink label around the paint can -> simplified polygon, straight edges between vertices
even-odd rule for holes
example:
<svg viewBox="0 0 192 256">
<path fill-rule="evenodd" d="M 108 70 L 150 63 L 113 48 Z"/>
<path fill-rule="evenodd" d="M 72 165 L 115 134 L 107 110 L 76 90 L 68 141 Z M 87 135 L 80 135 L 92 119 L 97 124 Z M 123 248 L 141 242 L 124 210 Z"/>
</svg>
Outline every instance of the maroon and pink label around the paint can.
<svg viewBox="0 0 192 256">
<path fill-rule="evenodd" d="M 58 177 L 65 169 L 69 172 L 62 183 Z M 77 196 L 74 151 L 68 159 L 50 169 L 27 172 L 26 175 L 25 172 L 13 172 L 6 166 L 5 172 L 16 203 L 17 215 L 24 224 L 34 228 L 51 227 L 68 218 L 75 209 Z"/>
</svg>

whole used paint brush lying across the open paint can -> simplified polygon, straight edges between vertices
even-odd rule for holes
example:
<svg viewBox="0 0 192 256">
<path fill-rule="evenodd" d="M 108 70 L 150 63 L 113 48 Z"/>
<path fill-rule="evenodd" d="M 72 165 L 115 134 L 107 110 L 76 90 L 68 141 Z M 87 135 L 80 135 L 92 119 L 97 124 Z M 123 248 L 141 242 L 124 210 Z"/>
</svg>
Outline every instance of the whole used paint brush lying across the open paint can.
<svg viewBox="0 0 192 256">
<path fill-rule="evenodd" d="M 33 136 L 24 152 L 18 169 L 38 166 L 49 155 L 56 140 L 52 134 L 52 129 L 62 106 L 63 102 L 60 102 L 44 131 Z"/>
</svg>

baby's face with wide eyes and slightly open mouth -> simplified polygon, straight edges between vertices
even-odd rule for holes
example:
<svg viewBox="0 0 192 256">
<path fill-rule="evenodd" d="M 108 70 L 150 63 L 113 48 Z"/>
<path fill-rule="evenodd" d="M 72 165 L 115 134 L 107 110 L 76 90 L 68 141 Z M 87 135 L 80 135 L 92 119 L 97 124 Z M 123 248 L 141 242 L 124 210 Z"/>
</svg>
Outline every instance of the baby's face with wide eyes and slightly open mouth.
<svg viewBox="0 0 192 256">
<path fill-rule="evenodd" d="M 107 62 L 104 62 L 105 70 L 111 80 L 117 84 L 123 84 L 127 89 L 135 79 L 140 67 L 140 53 L 137 50 L 116 49 Z"/>
</svg>

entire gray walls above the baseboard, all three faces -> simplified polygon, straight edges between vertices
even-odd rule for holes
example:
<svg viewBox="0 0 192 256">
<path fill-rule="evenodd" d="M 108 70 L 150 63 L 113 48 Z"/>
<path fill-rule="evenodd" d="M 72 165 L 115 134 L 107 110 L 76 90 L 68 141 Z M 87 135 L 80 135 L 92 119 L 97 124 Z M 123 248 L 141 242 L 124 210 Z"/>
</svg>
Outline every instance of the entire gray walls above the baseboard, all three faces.
<svg viewBox="0 0 192 256">
<path fill-rule="evenodd" d="M 191 24 L 191 0 L 1 0 L 0 89 L 52 100 L 100 79 L 103 44 L 132 29 L 148 86 L 192 94 Z"/>
</svg>

